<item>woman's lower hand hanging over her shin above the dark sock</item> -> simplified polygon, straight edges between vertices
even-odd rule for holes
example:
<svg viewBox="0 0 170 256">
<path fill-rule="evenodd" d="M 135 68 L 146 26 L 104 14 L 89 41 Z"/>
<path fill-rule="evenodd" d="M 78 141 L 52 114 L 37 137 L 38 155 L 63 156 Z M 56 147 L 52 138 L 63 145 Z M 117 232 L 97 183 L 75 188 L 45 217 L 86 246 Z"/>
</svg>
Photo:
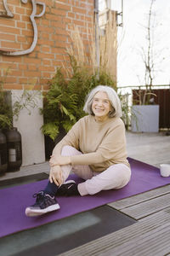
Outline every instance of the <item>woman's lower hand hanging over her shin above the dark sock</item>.
<svg viewBox="0 0 170 256">
<path fill-rule="evenodd" d="M 49 172 L 50 183 L 55 183 L 57 186 L 63 183 L 62 170 L 60 166 L 53 166 Z"/>
</svg>

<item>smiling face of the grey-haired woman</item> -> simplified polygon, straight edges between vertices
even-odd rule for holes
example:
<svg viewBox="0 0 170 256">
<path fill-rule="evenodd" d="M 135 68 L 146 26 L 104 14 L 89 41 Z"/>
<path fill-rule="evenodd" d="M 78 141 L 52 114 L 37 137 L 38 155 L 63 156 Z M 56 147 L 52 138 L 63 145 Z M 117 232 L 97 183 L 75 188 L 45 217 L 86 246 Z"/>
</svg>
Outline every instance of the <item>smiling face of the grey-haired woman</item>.
<svg viewBox="0 0 170 256">
<path fill-rule="evenodd" d="M 105 91 L 99 91 L 94 95 L 92 111 L 96 120 L 102 122 L 108 119 L 108 113 L 111 111 L 111 102 Z"/>
</svg>

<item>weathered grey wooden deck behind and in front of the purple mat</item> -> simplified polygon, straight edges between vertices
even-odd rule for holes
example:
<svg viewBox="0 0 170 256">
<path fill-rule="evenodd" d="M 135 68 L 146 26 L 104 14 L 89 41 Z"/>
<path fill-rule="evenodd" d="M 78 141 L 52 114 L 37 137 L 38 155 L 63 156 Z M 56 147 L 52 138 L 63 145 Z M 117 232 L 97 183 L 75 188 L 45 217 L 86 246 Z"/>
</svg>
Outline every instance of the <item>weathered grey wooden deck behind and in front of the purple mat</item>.
<svg viewBox="0 0 170 256">
<path fill-rule="evenodd" d="M 127 133 L 127 152 L 134 159 L 159 167 L 170 164 L 170 137 Z M 170 256 L 170 185 L 109 204 L 137 220 L 59 256 Z"/>
</svg>

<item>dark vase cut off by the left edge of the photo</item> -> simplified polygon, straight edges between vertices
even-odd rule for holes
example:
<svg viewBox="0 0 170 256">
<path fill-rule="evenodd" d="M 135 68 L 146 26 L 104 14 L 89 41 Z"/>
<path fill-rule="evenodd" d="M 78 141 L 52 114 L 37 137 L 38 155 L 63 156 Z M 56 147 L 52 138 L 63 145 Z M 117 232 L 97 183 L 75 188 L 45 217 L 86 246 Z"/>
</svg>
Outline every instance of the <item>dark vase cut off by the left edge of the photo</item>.
<svg viewBox="0 0 170 256">
<path fill-rule="evenodd" d="M 0 129 L 0 174 L 7 171 L 8 160 L 7 160 L 7 140 L 3 131 Z"/>
</svg>

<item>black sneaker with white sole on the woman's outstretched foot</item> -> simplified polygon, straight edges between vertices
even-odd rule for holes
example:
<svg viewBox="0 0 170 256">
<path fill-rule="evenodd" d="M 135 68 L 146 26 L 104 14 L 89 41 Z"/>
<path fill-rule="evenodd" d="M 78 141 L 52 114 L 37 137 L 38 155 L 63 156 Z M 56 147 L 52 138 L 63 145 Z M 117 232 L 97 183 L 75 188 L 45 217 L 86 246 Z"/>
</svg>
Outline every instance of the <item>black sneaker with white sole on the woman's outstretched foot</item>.
<svg viewBox="0 0 170 256">
<path fill-rule="evenodd" d="M 60 208 L 55 197 L 45 194 L 43 191 L 34 194 L 33 197 L 37 197 L 37 199 L 33 206 L 26 208 L 26 216 L 28 217 L 42 215 Z"/>
</svg>

